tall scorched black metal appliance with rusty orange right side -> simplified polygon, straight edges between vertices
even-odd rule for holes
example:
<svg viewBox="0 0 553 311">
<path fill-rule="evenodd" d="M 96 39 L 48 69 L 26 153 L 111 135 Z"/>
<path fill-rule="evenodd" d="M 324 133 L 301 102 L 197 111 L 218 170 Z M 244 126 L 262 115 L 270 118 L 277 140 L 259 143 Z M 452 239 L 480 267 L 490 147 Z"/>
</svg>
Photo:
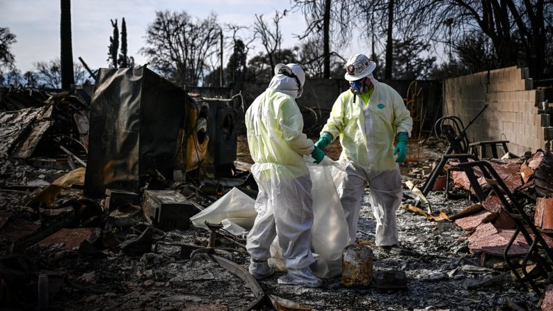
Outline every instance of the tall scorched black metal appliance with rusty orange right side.
<svg viewBox="0 0 553 311">
<path fill-rule="evenodd" d="M 153 176 L 197 168 L 209 142 L 209 106 L 147 67 L 102 68 L 90 106 L 86 196 L 140 193 Z"/>
</svg>

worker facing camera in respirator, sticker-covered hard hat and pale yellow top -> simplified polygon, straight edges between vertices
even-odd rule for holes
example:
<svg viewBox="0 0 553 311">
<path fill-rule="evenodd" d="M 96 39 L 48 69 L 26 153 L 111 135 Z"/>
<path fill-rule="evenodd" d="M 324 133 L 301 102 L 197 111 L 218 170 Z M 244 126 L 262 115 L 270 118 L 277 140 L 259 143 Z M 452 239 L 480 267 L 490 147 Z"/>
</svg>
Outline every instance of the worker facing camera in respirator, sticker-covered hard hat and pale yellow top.
<svg viewBox="0 0 553 311">
<path fill-rule="evenodd" d="M 407 156 L 412 118 L 401 95 L 374 79 L 375 67 L 363 54 L 348 59 L 344 77 L 350 89 L 336 99 L 315 145 L 325 150 L 338 136 L 342 143 L 340 159 L 346 159 L 348 167 L 338 194 L 351 243 L 355 242 L 360 201 L 368 183 L 376 218 L 376 246 L 390 250 L 398 244 L 396 209 L 402 198 L 398 163 Z M 395 137 L 398 143 L 394 147 Z"/>
</svg>

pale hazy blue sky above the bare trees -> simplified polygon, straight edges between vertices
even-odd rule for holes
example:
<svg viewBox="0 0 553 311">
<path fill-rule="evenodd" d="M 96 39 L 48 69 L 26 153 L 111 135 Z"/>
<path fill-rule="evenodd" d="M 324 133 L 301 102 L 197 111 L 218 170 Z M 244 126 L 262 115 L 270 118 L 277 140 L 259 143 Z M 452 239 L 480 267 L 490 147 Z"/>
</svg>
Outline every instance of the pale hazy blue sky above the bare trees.
<svg viewBox="0 0 553 311">
<path fill-rule="evenodd" d="M 154 21 L 156 10 L 186 10 L 193 17 L 206 17 L 210 12 L 218 15 L 218 22 L 240 26 L 252 26 L 255 14 L 272 18 L 275 10 L 291 6 L 287 0 L 72 0 L 73 58 L 81 56 L 90 67 L 106 67 L 109 36 L 113 32 L 110 19 L 122 17 L 127 22 L 129 56 L 136 63 L 146 63 L 138 54 L 145 45 L 143 35 L 148 24 Z M 16 66 L 25 72 L 33 70 L 33 63 L 59 57 L 59 0 L 0 0 L 0 27 L 8 27 L 17 36 L 11 51 Z M 287 14 L 281 19 L 282 47 L 298 43 L 293 34 L 305 29 L 300 12 Z M 246 35 L 246 33 L 243 33 Z M 254 43 L 254 53 L 262 51 L 260 42 Z M 360 45 L 362 52 L 369 52 L 368 45 Z M 351 51 L 342 51 L 347 57 Z M 250 54 L 253 55 L 253 54 Z M 226 57 L 225 57 L 226 58 Z"/>
</svg>

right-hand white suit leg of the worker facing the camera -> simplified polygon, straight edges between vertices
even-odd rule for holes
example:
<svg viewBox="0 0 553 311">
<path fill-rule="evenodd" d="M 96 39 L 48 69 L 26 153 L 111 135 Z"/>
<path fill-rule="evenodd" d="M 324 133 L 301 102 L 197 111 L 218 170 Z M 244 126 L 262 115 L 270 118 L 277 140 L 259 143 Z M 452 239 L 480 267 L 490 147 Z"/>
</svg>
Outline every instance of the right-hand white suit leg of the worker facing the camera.
<svg viewBox="0 0 553 311">
<path fill-rule="evenodd" d="M 401 205 L 401 175 L 399 168 L 380 173 L 370 180 L 373 214 L 376 219 L 376 245 L 398 243 L 396 209 Z"/>
</svg>

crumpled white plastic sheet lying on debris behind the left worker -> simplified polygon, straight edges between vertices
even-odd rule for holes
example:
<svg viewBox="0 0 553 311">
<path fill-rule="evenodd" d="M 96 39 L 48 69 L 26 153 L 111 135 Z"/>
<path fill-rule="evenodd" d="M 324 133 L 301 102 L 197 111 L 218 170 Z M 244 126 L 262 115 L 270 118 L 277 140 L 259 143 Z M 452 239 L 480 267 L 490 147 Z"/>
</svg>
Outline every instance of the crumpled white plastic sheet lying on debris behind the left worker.
<svg viewBox="0 0 553 311">
<path fill-rule="evenodd" d="M 237 188 L 232 188 L 225 196 L 216 200 L 207 209 L 190 218 L 198 228 L 207 228 L 209 223 L 222 223 L 228 232 L 241 235 L 253 227 L 255 221 L 255 200 Z"/>
</svg>

